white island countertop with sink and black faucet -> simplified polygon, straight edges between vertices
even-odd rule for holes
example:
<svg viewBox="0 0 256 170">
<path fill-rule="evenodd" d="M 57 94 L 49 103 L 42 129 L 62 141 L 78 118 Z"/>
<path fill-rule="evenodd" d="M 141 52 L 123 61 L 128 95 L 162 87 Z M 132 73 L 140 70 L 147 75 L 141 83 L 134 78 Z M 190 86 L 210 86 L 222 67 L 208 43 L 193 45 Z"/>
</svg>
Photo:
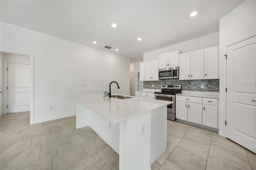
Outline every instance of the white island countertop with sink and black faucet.
<svg viewBox="0 0 256 170">
<path fill-rule="evenodd" d="M 70 96 L 70 98 L 104 117 L 111 123 L 118 123 L 173 103 L 171 101 L 156 100 L 148 97 L 132 97 L 130 99 L 109 98 L 103 97 L 102 93 L 74 95 Z"/>
</svg>

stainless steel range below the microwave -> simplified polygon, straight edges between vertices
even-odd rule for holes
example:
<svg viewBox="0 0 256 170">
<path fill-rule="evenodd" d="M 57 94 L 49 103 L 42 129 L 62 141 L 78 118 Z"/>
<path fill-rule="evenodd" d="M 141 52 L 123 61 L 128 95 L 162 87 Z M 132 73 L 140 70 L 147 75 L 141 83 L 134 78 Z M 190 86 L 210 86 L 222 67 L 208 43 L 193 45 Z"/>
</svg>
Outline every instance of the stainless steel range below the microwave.
<svg viewBox="0 0 256 170">
<path fill-rule="evenodd" d="M 154 99 L 173 101 L 167 105 L 167 119 L 175 121 L 175 95 L 181 93 L 181 85 L 162 85 L 161 92 L 155 92 Z"/>
</svg>

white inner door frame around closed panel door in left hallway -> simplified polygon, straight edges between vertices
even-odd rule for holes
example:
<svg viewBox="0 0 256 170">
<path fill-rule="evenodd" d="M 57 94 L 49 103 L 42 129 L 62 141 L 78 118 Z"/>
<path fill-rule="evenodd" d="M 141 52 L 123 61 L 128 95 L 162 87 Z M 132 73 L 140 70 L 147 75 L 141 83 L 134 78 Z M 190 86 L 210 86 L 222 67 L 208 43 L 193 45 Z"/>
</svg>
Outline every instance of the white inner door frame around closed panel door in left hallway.
<svg viewBox="0 0 256 170">
<path fill-rule="evenodd" d="M 4 61 L 4 68 L 7 67 L 7 64 L 8 64 L 8 63 L 16 63 L 16 64 L 27 64 L 27 65 L 30 65 L 30 63 L 23 63 L 23 62 L 7 61 L 7 60 L 5 60 L 5 61 Z M 4 69 L 4 87 L 7 86 L 7 81 L 8 81 L 8 79 L 7 79 L 7 70 Z M 4 88 L 4 106 L 6 106 L 6 105 L 8 104 L 7 99 L 8 99 L 7 89 Z M 7 113 L 7 108 L 4 107 L 4 114 L 6 114 L 6 113 Z"/>
</svg>

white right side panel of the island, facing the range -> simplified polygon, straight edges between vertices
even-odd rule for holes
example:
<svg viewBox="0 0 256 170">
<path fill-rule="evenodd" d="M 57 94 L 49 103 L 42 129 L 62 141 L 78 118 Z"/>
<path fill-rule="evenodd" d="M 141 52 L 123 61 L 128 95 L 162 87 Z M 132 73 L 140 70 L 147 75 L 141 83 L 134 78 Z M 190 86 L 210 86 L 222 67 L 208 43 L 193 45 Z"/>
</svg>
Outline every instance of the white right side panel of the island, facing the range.
<svg viewBox="0 0 256 170">
<path fill-rule="evenodd" d="M 166 150 L 166 123 L 167 106 L 152 111 L 151 114 L 151 142 L 150 142 L 150 164 Z"/>
</svg>

